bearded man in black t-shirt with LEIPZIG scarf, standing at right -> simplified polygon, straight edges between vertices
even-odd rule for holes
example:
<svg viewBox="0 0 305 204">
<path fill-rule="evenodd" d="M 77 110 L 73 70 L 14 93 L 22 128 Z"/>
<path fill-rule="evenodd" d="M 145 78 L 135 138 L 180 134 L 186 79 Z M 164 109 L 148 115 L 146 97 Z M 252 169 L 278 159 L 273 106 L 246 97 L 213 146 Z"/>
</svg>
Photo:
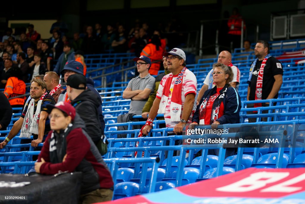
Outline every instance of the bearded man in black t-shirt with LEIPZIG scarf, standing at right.
<svg viewBox="0 0 305 204">
<path fill-rule="evenodd" d="M 280 61 L 270 56 L 269 52 L 267 41 L 257 41 L 254 48 L 257 59 L 252 63 L 249 72 L 248 101 L 278 98 L 278 91 L 283 82 L 283 67 Z M 269 103 L 247 105 L 248 108 L 259 106 L 269 106 Z M 249 118 L 249 122 L 255 121 L 256 118 Z M 262 118 L 262 121 L 266 121 L 266 118 Z"/>
</svg>

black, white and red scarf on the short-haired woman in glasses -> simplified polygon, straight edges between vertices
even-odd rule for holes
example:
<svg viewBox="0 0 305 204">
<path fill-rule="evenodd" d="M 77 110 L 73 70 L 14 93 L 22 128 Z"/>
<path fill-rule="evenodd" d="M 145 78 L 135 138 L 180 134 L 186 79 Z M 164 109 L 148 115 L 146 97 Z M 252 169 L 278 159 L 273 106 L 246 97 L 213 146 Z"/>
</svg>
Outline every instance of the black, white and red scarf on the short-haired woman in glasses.
<svg viewBox="0 0 305 204">
<path fill-rule="evenodd" d="M 213 102 L 210 124 L 212 124 L 213 122 L 215 122 L 218 119 L 220 105 L 221 105 L 221 102 L 223 101 L 223 99 L 227 95 L 227 90 L 228 90 L 229 86 L 230 85 L 228 83 L 226 85 L 224 85 L 223 89 L 220 90 L 219 96 Z M 212 88 L 210 90 L 210 92 L 208 93 L 208 95 L 203 99 L 203 102 L 201 103 L 201 105 L 199 106 L 199 124 L 205 124 L 204 117 L 206 114 L 206 104 L 209 101 L 212 93 L 216 92 L 216 90 L 217 90 L 216 86 L 214 88 Z"/>
</svg>

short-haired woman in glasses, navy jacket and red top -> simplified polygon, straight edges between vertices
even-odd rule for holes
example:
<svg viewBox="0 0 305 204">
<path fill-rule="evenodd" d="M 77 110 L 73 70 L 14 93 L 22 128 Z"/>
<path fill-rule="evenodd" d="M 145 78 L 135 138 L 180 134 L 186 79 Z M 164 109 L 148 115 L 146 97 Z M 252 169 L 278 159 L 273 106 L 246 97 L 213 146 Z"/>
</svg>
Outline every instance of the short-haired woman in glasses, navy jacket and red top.
<svg viewBox="0 0 305 204">
<path fill-rule="evenodd" d="M 192 124 L 212 124 L 212 127 L 217 127 L 218 124 L 239 123 L 240 96 L 229 84 L 233 78 L 232 69 L 222 63 L 215 63 L 213 70 L 216 86 L 204 93 Z"/>
</svg>

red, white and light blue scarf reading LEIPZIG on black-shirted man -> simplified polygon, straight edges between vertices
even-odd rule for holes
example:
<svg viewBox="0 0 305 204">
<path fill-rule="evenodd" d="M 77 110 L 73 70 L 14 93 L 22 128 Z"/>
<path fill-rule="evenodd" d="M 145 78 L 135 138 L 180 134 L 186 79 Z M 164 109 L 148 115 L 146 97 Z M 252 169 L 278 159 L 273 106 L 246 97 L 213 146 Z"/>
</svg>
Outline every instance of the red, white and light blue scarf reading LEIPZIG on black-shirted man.
<svg viewBox="0 0 305 204">
<path fill-rule="evenodd" d="M 260 70 L 258 71 L 258 76 L 257 76 L 257 81 L 256 81 L 256 88 L 255 88 L 255 100 L 262 100 L 262 92 L 263 92 L 263 77 L 264 77 L 264 67 L 266 65 L 266 62 L 268 58 L 271 57 L 270 54 L 267 54 L 266 57 L 264 57 L 262 64 L 260 65 Z M 248 84 L 251 83 L 252 75 L 253 75 L 253 70 L 256 67 L 256 63 L 258 61 L 258 58 L 253 62 L 250 68 L 249 72 L 249 79 L 247 81 Z M 254 108 L 256 107 L 261 107 L 262 103 L 254 103 Z"/>
</svg>

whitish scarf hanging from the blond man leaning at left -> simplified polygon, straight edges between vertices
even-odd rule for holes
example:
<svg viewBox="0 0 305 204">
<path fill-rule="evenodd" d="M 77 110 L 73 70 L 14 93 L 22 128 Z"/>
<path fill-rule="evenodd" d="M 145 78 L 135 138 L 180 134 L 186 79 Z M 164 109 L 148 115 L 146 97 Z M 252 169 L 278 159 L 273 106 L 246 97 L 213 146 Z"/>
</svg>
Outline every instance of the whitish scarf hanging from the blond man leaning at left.
<svg viewBox="0 0 305 204">
<path fill-rule="evenodd" d="M 20 137 L 30 138 L 32 134 L 38 134 L 38 123 L 41 111 L 42 101 L 45 98 L 45 95 L 48 93 L 45 92 L 39 99 L 36 107 L 36 112 L 34 114 L 35 108 L 35 99 L 32 98 L 27 106 L 27 113 L 25 114 L 23 124 L 21 127 Z"/>
</svg>

